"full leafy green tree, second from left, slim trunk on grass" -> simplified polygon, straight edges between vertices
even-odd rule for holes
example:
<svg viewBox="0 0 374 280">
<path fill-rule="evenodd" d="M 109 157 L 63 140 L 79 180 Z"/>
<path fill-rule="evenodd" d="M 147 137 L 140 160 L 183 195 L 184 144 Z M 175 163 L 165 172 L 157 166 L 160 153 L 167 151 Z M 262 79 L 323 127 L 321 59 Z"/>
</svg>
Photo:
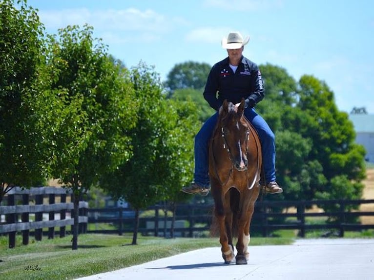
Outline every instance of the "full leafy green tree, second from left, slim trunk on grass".
<svg viewBox="0 0 374 280">
<path fill-rule="evenodd" d="M 58 38 L 49 37 L 52 92 L 60 98 L 51 110 L 62 116 L 49 136 L 55 151 L 51 172 L 73 193 L 73 250 L 78 248 L 79 200 L 100 174 L 131 157 L 127 131 L 137 119 L 127 70 L 113 63 L 92 30 L 67 26 Z"/>
</svg>

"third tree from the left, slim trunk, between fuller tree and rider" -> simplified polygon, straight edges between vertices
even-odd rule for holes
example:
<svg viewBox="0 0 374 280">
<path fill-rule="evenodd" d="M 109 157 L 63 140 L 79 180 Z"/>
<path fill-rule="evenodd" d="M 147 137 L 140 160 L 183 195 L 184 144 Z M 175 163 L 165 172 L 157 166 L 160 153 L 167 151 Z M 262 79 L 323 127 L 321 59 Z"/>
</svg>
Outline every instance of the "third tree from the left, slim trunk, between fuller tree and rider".
<svg viewBox="0 0 374 280">
<path fill-rule="evenodd" d="M 100 185 L 114 198 L 124 198 L 135 210 L 132 244 L 137 244 L 139 212 L 157 201 L 164 192 L 158 159 L 162 157 L 165 129 L 169 116 L 159 75 L 141 62 L 131 70 L 136 97 L 141 100 L 136 126 L 128 131 L 132 157 L 112 172 L 104 174 Z"/>
</svg>

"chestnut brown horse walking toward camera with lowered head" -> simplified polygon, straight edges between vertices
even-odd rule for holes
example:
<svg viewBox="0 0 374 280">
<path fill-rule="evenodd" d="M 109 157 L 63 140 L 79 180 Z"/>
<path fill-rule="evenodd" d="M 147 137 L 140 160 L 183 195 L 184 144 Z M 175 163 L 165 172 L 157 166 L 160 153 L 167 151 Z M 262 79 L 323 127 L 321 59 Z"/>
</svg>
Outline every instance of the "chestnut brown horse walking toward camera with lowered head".
<svg viewBox="0 0 374 280">
<path fill-rule="evenodd" d="M 244 116 L 245 101 L 224 100 L 209 145 L 209 178 L 214 218 L 226 264 L 247 264 L 249 226 L 260 193 L 261 144 L 256 130 Z M 237 232 L 236 250 L 232 243 Z"/>
</svg>

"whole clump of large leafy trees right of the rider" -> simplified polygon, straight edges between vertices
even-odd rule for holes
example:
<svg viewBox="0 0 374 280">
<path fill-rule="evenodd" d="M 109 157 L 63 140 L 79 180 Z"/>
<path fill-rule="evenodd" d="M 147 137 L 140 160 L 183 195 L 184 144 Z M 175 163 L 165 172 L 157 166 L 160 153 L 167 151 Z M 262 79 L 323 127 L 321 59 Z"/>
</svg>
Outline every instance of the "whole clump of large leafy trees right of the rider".
<svg viewBox="0 0 374 280">
<path fill-rule="evenodd" d="M 327 84 L 308 75 L 296 82 L 270 64 L 260 69 L 266 96 L 256 110 L 275 133 L 276 176 L 285 186 L 282 195 L 267 199 L 359 198 L 364 150 L 354 143 L 353 125 L 337 110 Z"/>
</svg>

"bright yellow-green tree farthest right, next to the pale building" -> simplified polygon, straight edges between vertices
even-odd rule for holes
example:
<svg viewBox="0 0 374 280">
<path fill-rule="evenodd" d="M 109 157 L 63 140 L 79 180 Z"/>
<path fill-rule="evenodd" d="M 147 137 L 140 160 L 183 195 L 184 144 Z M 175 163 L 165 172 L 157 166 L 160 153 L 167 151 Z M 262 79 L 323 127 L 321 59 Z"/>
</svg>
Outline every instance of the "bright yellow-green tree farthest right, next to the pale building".
<svg viewBox="0 0 374 280">
<path fill-rule="evenodd" d="M 339 112 L 333 100 L 333 92 L 323 81 L 304 75 L 300 79 L 299 107 L 315 120 L 313 131 L 309 132 L 313 140 L 312 157 L 324 166 L 324 173 L 330 180 L 339 174 L 352 174 L 352 167 L 357 171 L 350 176 L 352 180 L 362 180 L 365 174 L 364 155 L 362 158 L 351 157 L 340 164 L 336 156 L 348 157 L 358 149 L 354 143 L 355 132 L 348 115 Z M 357 153 L 363 150 L 357 150 Z M 354 163 L 351 161 L 354 160 Z M 350 163 L 348 163 L 350 162 Z"/>
</svg>

